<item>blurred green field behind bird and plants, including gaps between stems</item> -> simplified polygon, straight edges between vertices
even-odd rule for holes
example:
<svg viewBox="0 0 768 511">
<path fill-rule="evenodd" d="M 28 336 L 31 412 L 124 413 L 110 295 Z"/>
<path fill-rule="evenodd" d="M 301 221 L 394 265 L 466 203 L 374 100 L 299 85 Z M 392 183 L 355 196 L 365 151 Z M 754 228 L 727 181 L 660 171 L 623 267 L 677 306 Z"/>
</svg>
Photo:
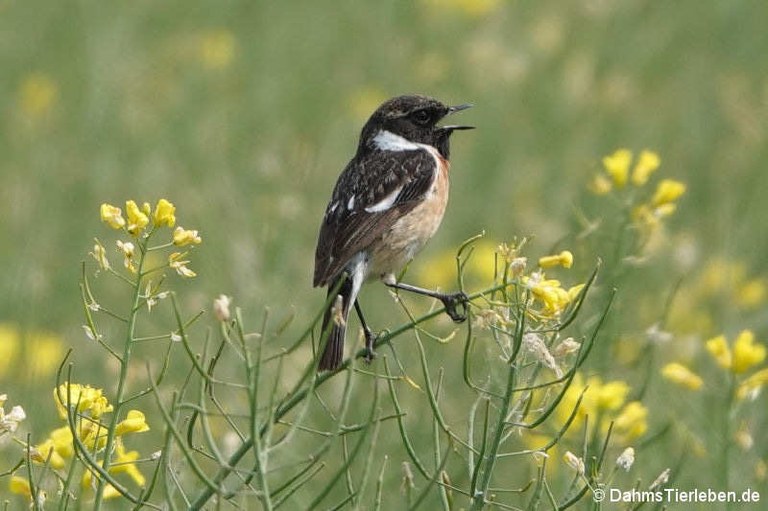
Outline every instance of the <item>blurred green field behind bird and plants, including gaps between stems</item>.
<svg viewBox="0 0 768 511">
<path fill-rule="evenodd" d="M 324 292 L 310 287 L 319 217 L 362 123 L 380 100 L 416 91 L 474 103 L 462 122 L 478 129 L 454 139 L 451 204 L 409 276 L 426 278 L 437 261 L 452 258 L 456 247 L 481 231 L 491 247 L 532 236 L 526 254 L 531 262 L 572 250 L 574 268 L 558 275 L 569 285 L 585 281 L 602 258 L 595 301 L 574 335 L 592 331 L 615 286 L 611 313 L 583 372 L 603 382 L 627 382 L 627 399 L 641 400 L 649 410 L 649 430 L 635 443 L 640 468 L 621 486 L 631 487 L 633 477 L 647 484 L 672 467 L 674 484 L 683 488 L 765 490 L 765 397 L 734 408 L 722 389 L 746 374 L 734 377 L 718 367 L 705 341 L 723 333 L 733 342 L 751 329 L 764 344 L 768 335 L 760 295 L 768 272 L 762 228 L 768 7 L 757 1 L 491 1 L 488 12 L 477 12 L 462 5 L 0 3 L 0 350 L 6 350 L 0 393 L 9 396 L 7 405 L 27 410 L 23 424 L 33 443 L 59 425 L 50 399 L 66 349 L 73 350 L 79 376 L 73 381 L 114 391 L 109 382 L 117 368 L 83 334 L 78 290 L 80 262 L 88 259 L 94 236 L 105 245 L 109 239 L 113 264 L 118 260 L 114 240 L 99 222 L 102 202 L 172 200 L 181 225 L 199 229 L 204 239 L 191 263 L 199 276 L 181 282 L 169 275 L 183 316 L 210 310 L 225 293 L 242 308 L 247 329 L 259 329 L 264 307 L 272 329 L 293 318 L 273 341 L 276 349 L 286 346 L 324 299 Z M 640 254 L 621 248 L 629 232 L 622 224 L 627 196 L 596 197 L 587 190 L 601 172 L 601 158 L 618 147 L 657 151 L 660 176 L 687 184 L 677 211 L 665 219 L 663 236 Z M 642 257 L 627 264 L 628 254 Z M 103 299 L 119 308 L 127 298 L 105 282 L 103 275 L 95 279 Z M 477 278 L 469 285 L 468 291 L 478 291 L 490 283 Z M 744 299 L 750 286 L 752 301 Z M 417 317 L 430 306 L 406 300 Z M 383 286 L 364 290 L 362 301 L 374 328 L 408 324 Z M 140 334 L 170 328 L 173 321 L 170 309 L 160 309 Z M 210 314 L 200 321 L 214 339 L 218 330 Z M 646 333 L 653 325 L 670 339 L 650 342 Z M 108 337 L 122 335 L 119 327 L 110 328 Z M 438 319 L 428 331 L 442 338 L 453 328 Z M 204 330 L 195 342 L 202 342 Z M 484 404 L 473 405 L 474 394 L 463 385 L 465 335 L 462 327 L 449 341 L 434 342 L 421 333 L 421 342 L 426 374 L 441 378 L 445 420 L 468 434 L 467 410 L 474 406 L 478 424 L 486 412 Z M 392 346 L 405 374 L 422 374 L 412 334 Z M 394 353 L 380 351 L 393 374 L 400 374 Z M 237 367 L 230 356 L 222 364 Z M 133 369 L 143 371 L 144 361 L 158 357 L 153 346 L 142 345 Z M 279 393 L 289 392 L 310 360 L 306 342 L 281 369 Z M 659 370 L 672 361 L 696 370 L 703 391 L 663 379 Z M 173 367 L 170 374 L 182 378 L 187 369 Z M 384 361 L 370 370 L 381 376 Z M 489 371 L 494 382 L 505 374 Z M 329 403 L 341 399 L 341 380 L 325 386 Z M 306 413 L 324 431 L 366 424 L 377 413 L 371 380 L 355 373 L 345 421 L 334 422 L 318 403 Z M 424 382 L 417 383 L 420 390 L 397 389 L 400 406 L 410 412 L 401 426 L 414 435 L 414 446 L 437 453 L 422 460 L 434 470 L 443 461 L 440 453 L 457 448 L 434 435 L 431 425 L 419 427 L 413 412 L 427 404 Z M 378 392 L 381 414 L 390 417 L 393 394 L 384 385 Z M 142 409 L 153 426 L 139 443 L 146 455 L 163 442 L 162 419 L 151 400 Z M 369 474 L 366 495 L 375 495 L 381 484 L 389 505 L 401 498 L 401 462 L 408 459 L 397 422 L 390 417 L 364 428 L 365 439 L 376 442 L 360 447 L 359 459 L 367 460 L 360 468 Z M 724 431 L 746 434 L 752 446 L 734 447 L 718 436 Z M 346 443 L 337 438 L 329 444 L 329 458 L 343 459 L 362 438 L 348 436 Z M 296 442 L 295 452 L 303 453 L 316 438 L 297 435 Z M 569 449 L 578 454 L 574 445 Z M 549 469 L 560 465 L 561 475 L 553 477 L 563 477 L 561 457 L 547 462 Z M 283 461 L 301 459 L 296 454 Z M 454 457 L 445 466 L 459 486 L 469 484 L 458 475 L 467 463 Z M 0 472 L 9 468 L 2 465 Z M 325 470 L 320 479 L 334 466 Z M 501 473 L 509 474 L 505 486 L 523 487 L 528 479 L 541 480 L 535 470 L 526 465 Z M 415 477 L 415 487 L 402 490 L 413 492 L 413 502 L 429 480 Z M 357 486 L 345 478 L 323 505 L 341 501 Z M 0 484 L 5 487 L 4 480 Z M 509 501 L 525 507 L 534 490 L 547 491 L 531 488 Z M 301 507 L 317 495 L 310 482 L 292 498 Z M 425 499 L 425 508 L 450 501 L 437 491 Z"/>
</svg>

